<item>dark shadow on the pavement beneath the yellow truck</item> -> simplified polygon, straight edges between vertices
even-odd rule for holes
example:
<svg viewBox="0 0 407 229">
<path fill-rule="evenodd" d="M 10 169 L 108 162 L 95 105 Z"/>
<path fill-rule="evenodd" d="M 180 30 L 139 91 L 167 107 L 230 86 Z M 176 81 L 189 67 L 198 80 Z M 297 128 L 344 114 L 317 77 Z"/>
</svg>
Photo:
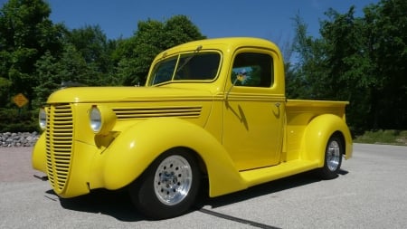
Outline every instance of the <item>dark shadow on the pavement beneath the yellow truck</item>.
<svg viewBox="0 0 407 229">
<path fill-rule="evenodd" d="M 338 176 L 345 176 L 346 174 L 348 174 L 348 172 L 341 169 Z M 254 197 L 270 195 L 272 193 L 288 190 L 297 186 L 307 186 L 319 181 L 321 181 L 321 179 L 317 178 L 313 171 L 310 171 L 292 177 L 281 178 L 263 185 L 252 186 L 246 190 L 225 196 L 210 198 L 207 197 L 207 193 L 203 193 L 203 196 L 197 201 L 194 209 L 191 210 L 199 210 L 203 208 L 204 205 L 211 205 L 212 208 L 232 205 L 234 203 L 246 201 Z M 208 190 L 207 186 L 204 186 L 203 189 Z M 46 193 L 56 196 L 52 190 L 49 190 Z M 97 189 L 85 196 L 73 198 L 61 198 L 56 196 L 56 198 L 59 198 L 63 208 L 73 211 L 110 215 L 123 222 L 148 220 L 143 215 L 137 213 L 136 208 L 128 196 L 128 191 L 125 188 L 118 191 Z"/>
</svg>

